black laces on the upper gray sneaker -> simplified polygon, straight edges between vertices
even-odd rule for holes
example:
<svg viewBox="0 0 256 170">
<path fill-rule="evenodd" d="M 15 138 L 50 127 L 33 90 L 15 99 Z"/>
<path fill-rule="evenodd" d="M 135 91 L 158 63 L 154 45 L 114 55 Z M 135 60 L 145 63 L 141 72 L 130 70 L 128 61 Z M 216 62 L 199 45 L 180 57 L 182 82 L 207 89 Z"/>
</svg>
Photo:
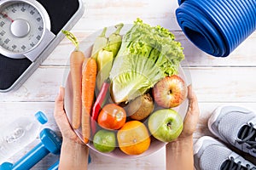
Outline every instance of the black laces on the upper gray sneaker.
<svg viewBox="0 0 256 170">
<path fill-rule="evenodd" d="M 256 153 L 256 129 L 253 128 L 252 122 L 241 128 L 238 138 L 241 139 L 238 141 L 239 144 L 249 144 L 247 149 L 255 149 L 253 150 L 253 153 Z"/>
</svg>

